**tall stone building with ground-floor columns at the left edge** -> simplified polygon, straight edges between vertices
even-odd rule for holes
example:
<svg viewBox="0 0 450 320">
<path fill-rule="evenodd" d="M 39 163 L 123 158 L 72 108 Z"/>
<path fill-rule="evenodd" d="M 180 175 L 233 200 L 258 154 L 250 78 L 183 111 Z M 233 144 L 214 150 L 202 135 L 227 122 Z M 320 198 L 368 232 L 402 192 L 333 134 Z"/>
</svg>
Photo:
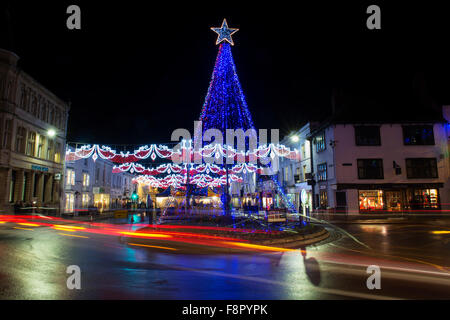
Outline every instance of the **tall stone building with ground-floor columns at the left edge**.
<svg viewBox="0 0 450 320">
<path fill-rule="evenodd" d="M 70 107 L 21 70 L 18 60 L 0 49 L 0 211 L 52 214 L 62 205 Z"/>
</svg>

